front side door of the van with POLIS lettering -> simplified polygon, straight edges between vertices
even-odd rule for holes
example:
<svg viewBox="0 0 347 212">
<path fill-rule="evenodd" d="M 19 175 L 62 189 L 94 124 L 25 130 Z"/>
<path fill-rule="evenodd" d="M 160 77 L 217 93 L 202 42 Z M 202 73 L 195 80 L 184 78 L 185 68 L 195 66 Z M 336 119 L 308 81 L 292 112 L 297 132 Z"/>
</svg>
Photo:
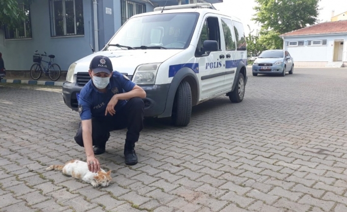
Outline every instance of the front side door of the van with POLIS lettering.
<svg viewBox="0 0 347 212">
<path fill-rule="evenodd" d="M 208 52 L 203 41 L 214 40 L 218 51 Z M 208 14 L 204 18 L 198 40 L 196 57 L 199 60 L 200 100 L 224 91 L 225 52 L 221 49 L 221 34 L 217 15 Z"/>
</svg>

